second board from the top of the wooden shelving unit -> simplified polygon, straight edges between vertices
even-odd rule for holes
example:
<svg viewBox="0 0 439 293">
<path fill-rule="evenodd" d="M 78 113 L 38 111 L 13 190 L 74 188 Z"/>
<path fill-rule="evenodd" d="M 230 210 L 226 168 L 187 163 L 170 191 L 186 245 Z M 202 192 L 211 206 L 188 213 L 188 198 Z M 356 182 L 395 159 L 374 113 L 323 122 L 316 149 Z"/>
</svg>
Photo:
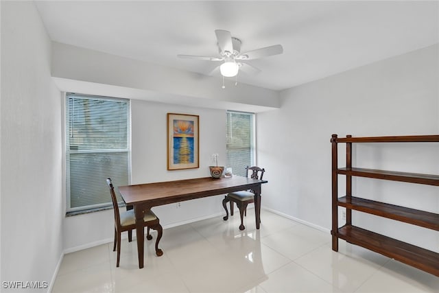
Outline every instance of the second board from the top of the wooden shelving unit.
<svg viewBox="0 0 439 293">
<path fill-rule="evenodd" d="M 364 168 L 339 168 L 337 174 L 439 186 L 439 176 Z"/>
</svg>

